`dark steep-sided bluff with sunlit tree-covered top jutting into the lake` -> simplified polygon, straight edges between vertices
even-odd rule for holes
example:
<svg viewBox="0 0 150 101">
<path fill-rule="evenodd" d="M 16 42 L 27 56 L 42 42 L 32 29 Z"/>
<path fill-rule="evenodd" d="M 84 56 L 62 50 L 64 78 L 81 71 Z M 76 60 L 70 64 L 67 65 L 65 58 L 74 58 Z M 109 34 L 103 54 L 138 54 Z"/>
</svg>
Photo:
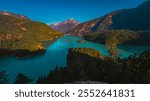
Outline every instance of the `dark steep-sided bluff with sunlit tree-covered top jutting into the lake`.
<svg viewBox="0 0 150 101">
<path fill-rule="evenodd" d="M 99 51 L 91 48 L 70 48 L 67 56 L 68 67 L 91 68 L 99 65 L 103 59 Z"/>
</svg>

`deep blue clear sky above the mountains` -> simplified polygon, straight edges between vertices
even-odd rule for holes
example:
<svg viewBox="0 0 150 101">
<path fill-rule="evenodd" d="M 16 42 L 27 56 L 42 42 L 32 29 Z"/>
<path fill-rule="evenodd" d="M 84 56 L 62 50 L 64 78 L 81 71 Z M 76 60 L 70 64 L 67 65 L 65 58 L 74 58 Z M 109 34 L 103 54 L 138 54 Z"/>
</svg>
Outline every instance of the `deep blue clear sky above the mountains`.
<svg viewBox="0 0 150 101">
<path fill-rule="evenodd" d="M 133 8 L 146 0 L 0 0 L 0 10 L 28 16 L 44 23 L 69 18 L 85 22 L 111 11 Z"/>
</svg>

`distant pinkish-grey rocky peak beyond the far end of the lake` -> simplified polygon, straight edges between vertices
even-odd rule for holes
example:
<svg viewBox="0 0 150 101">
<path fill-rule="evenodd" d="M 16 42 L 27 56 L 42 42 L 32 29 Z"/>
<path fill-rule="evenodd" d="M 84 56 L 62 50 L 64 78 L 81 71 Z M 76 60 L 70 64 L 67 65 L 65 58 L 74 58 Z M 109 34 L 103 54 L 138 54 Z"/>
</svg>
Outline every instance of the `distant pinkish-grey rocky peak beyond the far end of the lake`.
<svg viewBox="0 0 150 101">
<path fill-rule="evenodd" d="M 67 33 L 69 31 L 73 30 L 79 24 L 80 23 L 78 21 L 71 18 L 67 21 L 63 21 L 63 22 L 60 22 L 58 24 L 52 24 L 52 25 L 50 25 L 50 27 L 53 28 L 54 30 L 61 32 L 61 33 Z"/>
</svg>

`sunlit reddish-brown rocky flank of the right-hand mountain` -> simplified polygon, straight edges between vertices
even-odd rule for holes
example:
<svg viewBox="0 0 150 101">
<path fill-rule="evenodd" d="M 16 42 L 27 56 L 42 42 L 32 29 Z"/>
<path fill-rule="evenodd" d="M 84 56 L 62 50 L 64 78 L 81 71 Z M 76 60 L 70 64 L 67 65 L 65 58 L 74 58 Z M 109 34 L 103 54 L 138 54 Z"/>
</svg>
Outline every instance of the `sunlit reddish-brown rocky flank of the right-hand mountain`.
<svg viewBox="0 0 150 101">
<path fill-rule="evenodd" d="M 122 12 L 122 11 L 124 11 L 124 10 L 112 12 L 106 16 L 81 23 L 74 30 L 72 30 L 70 33 L 71 34 L 86 34 L 86 33 L 93 33 L 93 32 L 104 31 L 104 30 L 110 29 L 111 24 L 113 23 L 112 17 L 116 13 Z"/>
</svg>

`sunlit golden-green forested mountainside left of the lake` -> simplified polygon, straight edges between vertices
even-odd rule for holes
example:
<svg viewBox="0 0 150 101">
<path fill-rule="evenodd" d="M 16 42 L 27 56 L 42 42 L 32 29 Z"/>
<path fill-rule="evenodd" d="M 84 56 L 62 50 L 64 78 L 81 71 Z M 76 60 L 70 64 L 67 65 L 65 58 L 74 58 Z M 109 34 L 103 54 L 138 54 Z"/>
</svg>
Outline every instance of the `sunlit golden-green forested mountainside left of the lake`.
<svg viewBox="0 0 150 101">
<path fill-rule="evenodd" d="M 0 56 L 45 50 L 42 42 L 55 40 L 62 35 L 48 25 L 24 16 L 13 13 L 0 14 Z"/>
</svg>

